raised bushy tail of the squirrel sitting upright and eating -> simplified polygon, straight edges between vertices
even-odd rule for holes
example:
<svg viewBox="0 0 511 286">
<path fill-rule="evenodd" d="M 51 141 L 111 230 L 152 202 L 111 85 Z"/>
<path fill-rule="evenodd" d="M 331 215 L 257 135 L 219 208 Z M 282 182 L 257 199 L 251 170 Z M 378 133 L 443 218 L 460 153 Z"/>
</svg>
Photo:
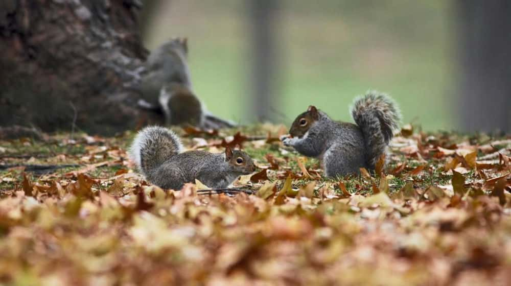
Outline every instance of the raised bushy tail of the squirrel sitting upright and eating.
<svg viewBox="0 0 511 286">
<path fill-rule="evenodd" d="M 373 169 L 385 153 L 393 131 L 399 128 L 401 113 L 397 104 L 386 94 L 369 90 L 355 99 L 351 109 L 353 120 L 362 129 L 367 150 L 367 164 Z"/>
</svg>

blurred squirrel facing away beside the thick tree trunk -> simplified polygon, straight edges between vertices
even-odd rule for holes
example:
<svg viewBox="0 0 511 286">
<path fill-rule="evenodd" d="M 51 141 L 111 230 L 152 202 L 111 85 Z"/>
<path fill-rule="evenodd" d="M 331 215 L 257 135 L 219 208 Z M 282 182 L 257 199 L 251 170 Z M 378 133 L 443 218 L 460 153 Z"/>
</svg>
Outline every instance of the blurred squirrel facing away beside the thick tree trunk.
<svg viewBox="0 0 511 286">
<path fill-rule="evenodd" d="M 151 52 L 141 81 L 138 105 L 165 115 L 169 125 L 192 125 L 206 129 L 234 127 L 207 111 L 192 89 L 187 38 L 172 38 Z"/>
</svg>

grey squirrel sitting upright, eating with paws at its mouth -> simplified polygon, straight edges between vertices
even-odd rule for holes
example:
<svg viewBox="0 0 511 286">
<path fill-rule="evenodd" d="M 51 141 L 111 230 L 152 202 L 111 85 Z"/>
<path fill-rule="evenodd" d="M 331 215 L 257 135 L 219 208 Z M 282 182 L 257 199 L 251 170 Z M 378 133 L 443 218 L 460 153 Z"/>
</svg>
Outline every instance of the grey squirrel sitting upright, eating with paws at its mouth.
<svg viewBox="0 0 511 286">
<path fill-rule="evenodd" d="M 309 106 L 294 120 L 290 136 L 281 138 L 283 144 L 319 158 L 330 178 L 358 174 L 362 167 L 372 171 L 398 129 L 401 113 L 387 94 L 371 90 L 355 99 L 351 113 L 356 124 L 333 121 Z"/>
</svg>

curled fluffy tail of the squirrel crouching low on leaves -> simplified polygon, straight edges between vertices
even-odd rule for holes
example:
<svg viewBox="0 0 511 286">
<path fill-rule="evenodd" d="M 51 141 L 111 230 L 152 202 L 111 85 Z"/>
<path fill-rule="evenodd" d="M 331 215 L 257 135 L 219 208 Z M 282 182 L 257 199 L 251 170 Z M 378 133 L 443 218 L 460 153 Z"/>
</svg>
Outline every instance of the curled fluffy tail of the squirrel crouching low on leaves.
<svg viewBox="0 0 511 286">
<path fill-rule="evenodd" d="M 147 176 L 170 157 L 181 153 L 182 149 L 181 140 L 172 130 L 150 126 L 135 136 L 130 158 L 135 161 L 140 172 Z"/>
</svg>

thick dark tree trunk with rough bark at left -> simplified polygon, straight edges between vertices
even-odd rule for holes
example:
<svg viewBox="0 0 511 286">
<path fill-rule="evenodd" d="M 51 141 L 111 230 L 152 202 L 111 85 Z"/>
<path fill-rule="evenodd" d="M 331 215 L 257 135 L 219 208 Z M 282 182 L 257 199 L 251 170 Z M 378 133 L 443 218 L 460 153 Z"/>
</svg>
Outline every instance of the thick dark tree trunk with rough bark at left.
<svg viewBox="0 0 511 286">
<path fill-rule="evenodd" d="M 158 120 L 136 105 L 148 54 L 138 8 L 137 0 L 2 0 L 0 126 L 112 134 Z"/>
</svg>

